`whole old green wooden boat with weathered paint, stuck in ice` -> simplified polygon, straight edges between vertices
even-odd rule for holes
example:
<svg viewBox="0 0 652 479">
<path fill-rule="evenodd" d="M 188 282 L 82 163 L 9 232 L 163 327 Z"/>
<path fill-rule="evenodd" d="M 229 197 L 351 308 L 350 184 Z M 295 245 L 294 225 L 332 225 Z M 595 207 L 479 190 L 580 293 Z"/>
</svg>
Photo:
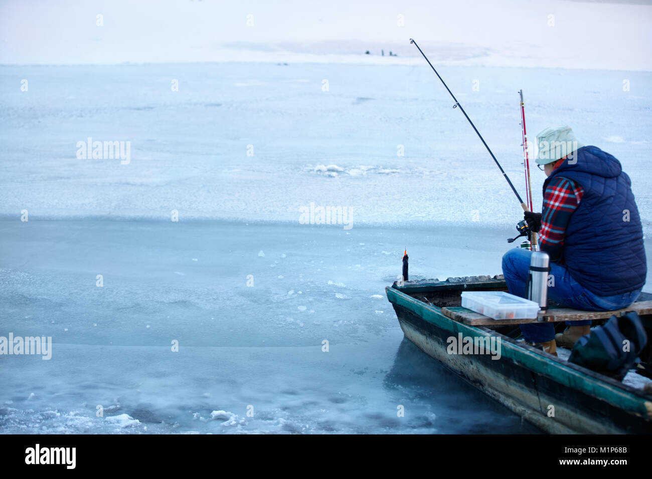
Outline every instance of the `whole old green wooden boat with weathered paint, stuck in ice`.
<svg viewBox="0 0 652 479">
<path fill-rule="evenodd" d="M 406 338 L 514 413 L 549 433 L 652 433 L 652 394 L 514 339 L 518 321 L 488 324 L 486 317 L 461 308 L 462 291 L 507 291 L 502 276 L 394 282 L 385 288 Z M 636 309 L 652 338 L 652 295 Z M 549 317 L 598 319 L 608 313 L 550 306 Z M 481 318 L 484 318 L 482 321 Z M 548 318 L 550 319 L 550 318 Z M 559 317 L 556 318 L 559 321 Z M 483 325 L 479 325 L 482 323 Z M 514 334 L 516 331 L 516 334 Z M 510 334 L 510 332 L 512 334 Z M 460 336 L 460 334 L 462 336 Z M 512 336 L 512 337 L 510 337 Z M 454 338 L 500 344 L 500 355 L 476 349 L 451 353 Z M 453 339 L 451 339 L 453 338 Z M 493 339 L 492 339 L 493 338 Z M 644 353 L 649 356 L 648 345 Z M 560 351 L 560 350 L 558 350 Z M 642 355 L 644 358 L 644 355 Z M 649 358 L 647 358 L 649 360 Z M 499 429 L 497 429 L 499 432 Z"/>
</svg>

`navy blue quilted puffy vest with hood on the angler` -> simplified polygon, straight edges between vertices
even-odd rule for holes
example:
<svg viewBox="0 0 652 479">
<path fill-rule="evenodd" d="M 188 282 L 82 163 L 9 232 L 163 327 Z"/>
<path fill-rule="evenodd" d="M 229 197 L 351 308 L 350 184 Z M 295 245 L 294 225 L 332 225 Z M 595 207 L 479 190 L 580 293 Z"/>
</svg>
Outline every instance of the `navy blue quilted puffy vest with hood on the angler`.
<svg viewBox="0 0 652 479">
<path fill-rule="evenodd" d="M 584 189 L 564 239 L 563 260 L 571 276 L 602 297 L 643 287 L 643 228 L 629 176 L 614 156 L 598 147 L 578 149 L 575 160 L 563 162 L 543 184 L 545 191 L 553 178 L 564 177 Z"/>
</svg>

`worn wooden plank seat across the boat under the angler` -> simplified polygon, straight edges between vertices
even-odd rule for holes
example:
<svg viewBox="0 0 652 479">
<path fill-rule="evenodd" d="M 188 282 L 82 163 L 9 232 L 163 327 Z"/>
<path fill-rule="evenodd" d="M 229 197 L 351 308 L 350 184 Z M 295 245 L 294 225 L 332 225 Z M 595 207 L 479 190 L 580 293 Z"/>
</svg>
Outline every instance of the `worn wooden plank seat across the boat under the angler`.
<svg viewBox="0 0 652 479">
<path fill-rule="evenodd" d="M 639 315 L 652 314 L 652 300 L 637 301 L 634 304 L 614 311 L 583 311 L 566 308 L 564 306 L 549 306 L 548 311 L 539 313 L 542 321 L 582 321 L 583 319 L 607 319 L 612 315 L 623 315 L 624 313 L 636 311 Z M 491 319 L 480 313 L 476 313 L 460 306 L 441 308 L 446 317 L 454 321 L 460 321 L 469 326 L 498 326 L 498 325 L 522 325 L 525 323 L 541 322 L 538 318 L 531 319 Z"/>
</svg>

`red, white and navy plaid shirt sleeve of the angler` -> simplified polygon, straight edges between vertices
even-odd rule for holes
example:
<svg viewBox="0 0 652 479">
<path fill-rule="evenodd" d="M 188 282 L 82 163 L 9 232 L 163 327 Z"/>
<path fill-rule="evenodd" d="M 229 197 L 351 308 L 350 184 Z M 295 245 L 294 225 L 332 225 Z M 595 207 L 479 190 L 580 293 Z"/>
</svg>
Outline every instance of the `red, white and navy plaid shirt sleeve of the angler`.
<svg viewBox="0 0 652 479">
<path fill-rule="evenodd" d="M 566 228 L 582 195 L 582 186 L 564 177 L 553 179 L 543 192 L 539 248 L 550 255 L 550 261 L 563 261 Z"/>
</svg>

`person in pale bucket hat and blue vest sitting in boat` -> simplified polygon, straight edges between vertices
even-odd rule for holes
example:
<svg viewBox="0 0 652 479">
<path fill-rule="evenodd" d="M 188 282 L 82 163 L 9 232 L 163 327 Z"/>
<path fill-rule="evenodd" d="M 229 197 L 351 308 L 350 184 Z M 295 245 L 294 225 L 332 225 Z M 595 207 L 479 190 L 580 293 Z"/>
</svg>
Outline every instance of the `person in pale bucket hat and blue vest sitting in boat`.
<svg viewBox="0 0 652 479">
<path fill-rule="evenodd" d="M 537 164 L 548 178 L 541 213 L 526 212 L 539 248 L 550 255 L 548 297 L 578 310 L 608 311 L 636 301 L 645 284 L 643 229 L 631 181 L 614 156 L 577 141 L 569 126 L 537 135 Z M 541 167 L 543 166 L 543 168 Z M 526 297 L 531 251 L 503 256 L 509 292 Z M 554 323 L 521 325 L 524 339 L 556 355 L 591 334 L 591 321 L 567 321 L 555 336 Z"/>
</svg>

